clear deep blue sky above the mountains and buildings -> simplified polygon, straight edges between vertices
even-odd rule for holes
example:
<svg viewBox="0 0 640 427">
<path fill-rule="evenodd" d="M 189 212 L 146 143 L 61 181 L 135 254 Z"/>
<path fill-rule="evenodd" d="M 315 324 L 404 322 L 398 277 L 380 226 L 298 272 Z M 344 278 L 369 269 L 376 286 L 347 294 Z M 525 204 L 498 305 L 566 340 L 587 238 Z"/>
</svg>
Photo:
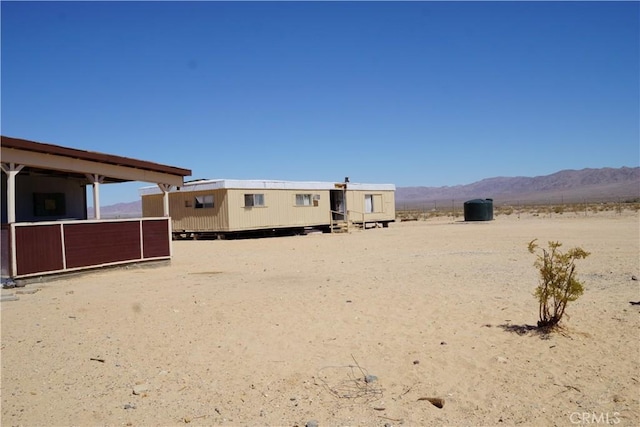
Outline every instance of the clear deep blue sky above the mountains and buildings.
<svg viewBox="0 0 640 427">
<path fill-rule="evenodd" d="M 469 184 L 640 162 L 639 2 L 12 2 L 2 134 L 196 178 Z M 103 186 L 101 204 L 147 183 Z"/>
</svg>

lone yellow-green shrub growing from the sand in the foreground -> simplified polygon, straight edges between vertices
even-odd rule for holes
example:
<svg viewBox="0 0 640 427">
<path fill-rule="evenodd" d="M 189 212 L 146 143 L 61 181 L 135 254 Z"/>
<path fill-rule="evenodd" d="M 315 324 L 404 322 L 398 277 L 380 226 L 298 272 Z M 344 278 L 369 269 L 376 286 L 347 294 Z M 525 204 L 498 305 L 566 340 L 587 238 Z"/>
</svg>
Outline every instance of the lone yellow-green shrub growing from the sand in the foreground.
<svg viewBox="0 0 640 427">
<path fill-rule="evenodd" d="M 562 252 L 560 242 L 549 242 L 549 248 L 539 248 L 534 239 L 529 242 L 529 252 L 536 255 L 534 266 L 540 273 L 540 283 L 534 295 L 538 298 L 538 328 L 555 328 L 565 314 L 567 304 L 584 292 L 577 279 L 575 261 L 590 255 L 576 247 Z"/>
</svg>

